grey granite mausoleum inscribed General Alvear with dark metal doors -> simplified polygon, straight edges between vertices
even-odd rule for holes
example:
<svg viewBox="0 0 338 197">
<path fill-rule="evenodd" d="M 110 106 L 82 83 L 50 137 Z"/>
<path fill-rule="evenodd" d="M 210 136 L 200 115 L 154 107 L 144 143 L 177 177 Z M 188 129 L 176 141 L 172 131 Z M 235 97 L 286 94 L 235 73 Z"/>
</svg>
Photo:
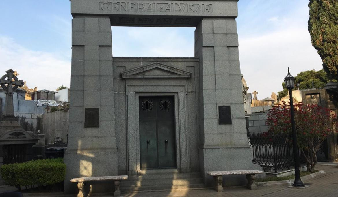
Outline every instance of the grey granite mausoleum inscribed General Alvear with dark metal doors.
<svg viewBox="0 0 338 197">
<path fill-rule="evenodd" d="M 121 190 L 135 191 L 210 187 L 207 171 L 261 169 L 246 134 L 237 13 L 237 0 L 71 1 L 66 193 L 77 193 L 74 177 L 129 175 Z M 196 27 L 195 57 L 114 57 L 111 26 Z"/>
</svg>

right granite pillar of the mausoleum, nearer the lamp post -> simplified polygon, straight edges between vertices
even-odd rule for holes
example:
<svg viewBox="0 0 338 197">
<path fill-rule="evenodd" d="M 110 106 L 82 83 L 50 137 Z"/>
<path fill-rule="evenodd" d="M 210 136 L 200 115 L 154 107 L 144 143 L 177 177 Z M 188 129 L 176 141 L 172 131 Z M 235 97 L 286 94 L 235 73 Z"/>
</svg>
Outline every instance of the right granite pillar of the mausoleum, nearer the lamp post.
<svg viewBox="0 0 338 197">
<path fill-rule="evenodd" d="M 261 169 L 252 164 L 246 134 L 234 18 L 202 18 L 195 30 L 195 57 L 199 57 L 200 170 L 206 186 L 212 186 L 207 171 Z M 221 105 L 231 107 L 232 124 L 218 124 Z M 225 185 L 246 183 L 245 176 L 227 180 Z"/>
</svg>

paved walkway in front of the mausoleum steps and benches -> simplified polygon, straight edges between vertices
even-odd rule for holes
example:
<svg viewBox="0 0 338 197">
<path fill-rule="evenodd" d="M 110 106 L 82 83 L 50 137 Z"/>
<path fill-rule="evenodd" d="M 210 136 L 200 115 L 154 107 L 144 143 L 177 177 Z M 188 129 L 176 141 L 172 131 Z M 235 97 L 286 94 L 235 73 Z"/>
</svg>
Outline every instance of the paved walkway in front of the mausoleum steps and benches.
<svg viewBox="0 0 338 197">
<path fill-rule="evenodd" d="M 140 192 L 140 193 L 123 193 L 125 197 L 177 197 L 177 196 L 231 196 L 231 197 L 247 197 L 247 196 L 272 196 L 272 197 L 285 197 L 285 196 L 306 196 L 306 197 L 337 197 L 338 196 L 338 166 L 326 166 L 318 165 L 318 170 L 324 170 L 327 174 L 319 178 L 305 181 L 305 185 L 308 188 L 305 189 L 293 189 L 287 186 L 270 186 L 270 187 L 258 187 L 257 190 L 249 190 L 245 187 L 225 187 L 223 192 L 216 192 L 213 189 L 201 189 L 201 190 L 186 190 L 186 191 L 159 191 L 159 192 Z M 0 190 L 4 190 L 1 188 Z M 76 195 L 63 195 L 62 193 L 49 193 L 49 194 L 24 194 L 25 197 L 41 197 L 41 196 L 76 196 Z"/>
</svg>

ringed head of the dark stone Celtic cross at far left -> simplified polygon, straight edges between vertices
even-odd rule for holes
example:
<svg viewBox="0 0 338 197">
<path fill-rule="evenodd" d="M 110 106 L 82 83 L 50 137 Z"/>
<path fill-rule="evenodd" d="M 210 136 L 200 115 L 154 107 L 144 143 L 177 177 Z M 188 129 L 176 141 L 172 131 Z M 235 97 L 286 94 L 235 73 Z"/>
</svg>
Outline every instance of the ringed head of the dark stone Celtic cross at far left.
<svg viewBox="0 0 338 197">
<path fill-rule="evenodd" d="M 6 75 L 2 76 L 0 79 L 1 87 L 6 90 L 5 94 L 13 95 L 13 91 L 16 90 L 18 87 L 23 86 L 25 84 L 22 80 L 18 80 L 17 76 L 14 75 L 13 69 L 9 69 L 6 71 Z M 6 80 L 7 78 L 7 80 Z M 6 86 L 7 85 L 7 86 Z"/>
</svg>

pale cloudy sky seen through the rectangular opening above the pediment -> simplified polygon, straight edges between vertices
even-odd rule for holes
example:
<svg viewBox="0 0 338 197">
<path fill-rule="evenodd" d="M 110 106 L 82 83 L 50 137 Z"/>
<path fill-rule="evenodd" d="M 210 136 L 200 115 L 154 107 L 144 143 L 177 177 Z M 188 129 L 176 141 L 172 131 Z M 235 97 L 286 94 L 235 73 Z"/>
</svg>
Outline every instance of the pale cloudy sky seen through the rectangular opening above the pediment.
<svg viewBox="0 0 338 197">
<path fill-rule="evenodd" d="M 193 57 L 194 29 L 113 27 L 113 56 Z"/>
</svg>

